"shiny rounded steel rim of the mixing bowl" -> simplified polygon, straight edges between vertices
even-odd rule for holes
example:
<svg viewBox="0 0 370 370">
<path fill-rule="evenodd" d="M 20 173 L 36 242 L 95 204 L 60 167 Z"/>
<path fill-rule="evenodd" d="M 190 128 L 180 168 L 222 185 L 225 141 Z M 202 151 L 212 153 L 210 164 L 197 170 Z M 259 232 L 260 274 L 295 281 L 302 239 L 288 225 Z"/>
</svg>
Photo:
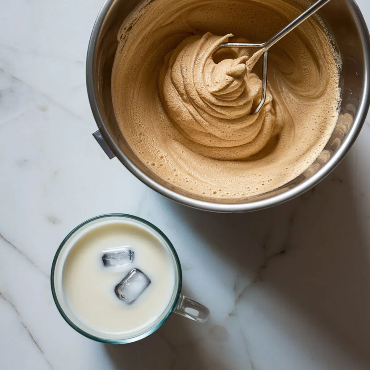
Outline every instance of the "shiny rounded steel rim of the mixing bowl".
<svg viewBox="0 0 370 370">
<path fill-rule="evenodd" d="M 139 180 L 144 182 L 153 190 L 157 191 L 159 194 L 166 196 L 175 202 L 184 204 L 186 206 L 202 209 L 211 212 L 224 212 L 224 213 L 237 213 L 237 212 L 250 212 L 257 211 L 260 209 L 269 208 L 290 199 L 296 198 L 297 196 L 303 194 L 307 190 L 313 188 L 320 181 L 322 181 L 327 175 L 330 174 L 336 168 L 336 166 L 342 161 L 346 153 L 349 151 L 366 119 L 367 111 L 370 105 L 370 91 L 369 91 L 369 71 L 370 71 L 370 36 L 369 30 L 366 26 L 364 17 L 359 9 L 359 6 L 354 0 L 346 0 L 354 19 L 356 20 L 357 27 L 361 36 L 361 44 L 363 47 L 364 55 L 364 78 L 363 78 L 363 95 L 361 96 L 359 107 L 357 109 L 356 115 L 353 120 L 346 137 L 343 139 L 342 145 L 337 150 L 337 152 L 329 159 L 329 161 L 319 169 L 314 175 L 309 179 L 306 179 L 299 185 L 288 189 L 277 195 L 273 195 L 269 198 L 249 201 L 244 203 L 217 203 L 212 201 L 204 201 L 200 199 L 194 199 L 189 196 L 179 194 L 165 186 L 159 184 L 144 172 L 142 172 L 120 149 L 117 143 L 112 138 L 110 132 L 105 126 L 104 120 L 101 116 L 96 94 L 95 94 L 95 83 L 94 83 L 94 64 L 95 64 L 95 49 L 98 41 L 100 29 L 104 18 L 111 7 L 111 4 L 115 0 L 105 0 L 101 10 L 98 13 L 97 19 L 92 28 L 90 41 L 88 44 L 87 58 L 86 58 L 86 85 L 87 93 L 90 101 L 90 106 L 92 114 L 97 123 L 98 129 L 101 132 L 102 137 L 108 144 L 115 156 L 121 161 L 121 163 Z"/>
</svg>

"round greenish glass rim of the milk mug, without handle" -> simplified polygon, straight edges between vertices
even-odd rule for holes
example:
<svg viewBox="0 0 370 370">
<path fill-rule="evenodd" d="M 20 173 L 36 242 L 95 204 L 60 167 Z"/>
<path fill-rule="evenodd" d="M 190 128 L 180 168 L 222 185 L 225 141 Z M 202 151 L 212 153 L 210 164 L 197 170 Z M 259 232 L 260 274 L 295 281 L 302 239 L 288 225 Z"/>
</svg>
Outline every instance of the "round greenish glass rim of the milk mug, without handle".
<svg viewBox="0 0 370 370">
<path fill-rule="evenodd" d="M 71 238 L 71 236 L 74 235 L 75 232 L 77 232 L 80 228 L 87 225 L 88 223 L 96 221 L 98 219 L 104 219 L 104 218 L 109 218 L 109 217 L 121 217 L 121 218 L 126 218 L 126 219 L 131 219 L 131 220 L 134 220 L 134 221 L 142 222 L 145 225 L 149 226 L 149 228 L 156 231 L 164 239 L 165 243 L 169 247 L 169 250 L 170 250 L 170 252 L 172 253 L 172 255 L 174 257 L 175 268 L 177 269 L 177 274 L 178 274 L 177 288 L 175 287 L 175 289 L 174 289 L 174 290 L 176 290 L 174 302 L 172 303 L 172 305 L 170 307 L 166 308 L 166 310 L 168 310 L 168 312 L 165 314 L 165 316 L 156 325 L 149 328 L 144 333 L 141 333 L 141 334 L 138 334 L 138 335 L 134 334 L 132 337 L 125 338 L 125 339 L 105 339 L 105 338 L 98 337 L 98 336 L 95 336 L 95 335 L 92 335 L 90 333 L 85 332 L 85 330 L 81 329 L 75 323 L 73 323 L 72 320 L 70 320 L 70 318 L 64 312 L 64 310 L 61 307 L 60 302 L 58 300 L 57 292 L 56 292 L 56 289 L 55 289 L 55 278 L 54 278 L 55 266 L 57 264 L 58 257 L 60 255 L 60 252 L 63 250 L 63 247 L 64 247 L 65 243 L 67 243 L 67 241 Z M 61 314 L 61 316 L 63 317 L 63 319 L 74 330 L 76 330 L 76 332 L 82 334 L 83 336 L 85 336 L 89 339 L 92 339 L 92 340 L 95 340 L 95 341 L 101 342 L 101 343 L 125 344 L 125 343 L 136 342 L 137 340 L 143 339 L 143 338 L 149 336 L 150 334 L 154 333 L 156 330 L 158 330 L 164 324 L 164 322 L 168 319 L 168 317 L 174 312 L 176 306 L 178 305 L 179 298 L 181 296 L 182 270 L 181 270 L 181 263 L 180 263 L 179 257 L 177 255 L 177 252 L 176 252 L 174 246 L 172 245 L 171 241 L 167 238 L 167 236 L 159 228 L 157 228 L 157 226 L 153 225 L 151 222 L 149 222 L 145 219 L 142 219 L 142 218 L 134 216 L 134 215 L 129 215 L 127 213 L 107 213 L 107 214 L 104 214 L 104 215 L 99 215 L 99 216 L 89 218 L 88 220 L 80 223 L 78 226 L 76 226 L 72 231 L 70 231 L 67 234 L 67 236 L 63 239 L 63 241 L 60 243 L 57 251 L 55 252 L 53 263 L 51 265 L 50 283 L 51 283 L 51 293 L 53 295 L 53 300 L 54 300 L 55 306 L 57 306 L 57 309 L 58 309 L 59 313 Z"/>
</svg>

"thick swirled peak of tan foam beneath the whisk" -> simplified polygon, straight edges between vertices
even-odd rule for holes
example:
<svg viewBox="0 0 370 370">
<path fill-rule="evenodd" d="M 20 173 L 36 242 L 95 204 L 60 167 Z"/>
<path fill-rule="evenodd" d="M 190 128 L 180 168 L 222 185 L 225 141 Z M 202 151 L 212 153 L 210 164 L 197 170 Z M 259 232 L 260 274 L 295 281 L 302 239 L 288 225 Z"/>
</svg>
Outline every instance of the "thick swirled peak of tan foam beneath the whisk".
<svg viewBox="0 0 370 370">
<path fill-rule="evenodd" d="M 166 55 L 161 70 L 162 102 L 175 126 L 190 139 L 191 150 L 216 159 L 245 159 L 269 141 L 276 121 L 268 90 L 262 110 L 262 81 L 252 73 L 263 53 L 249 58 L 240 48 L 213 52 L 232 34 L 186 38 Z M 194 143 L 194 145 L 192 144 Z"/>
</svg>

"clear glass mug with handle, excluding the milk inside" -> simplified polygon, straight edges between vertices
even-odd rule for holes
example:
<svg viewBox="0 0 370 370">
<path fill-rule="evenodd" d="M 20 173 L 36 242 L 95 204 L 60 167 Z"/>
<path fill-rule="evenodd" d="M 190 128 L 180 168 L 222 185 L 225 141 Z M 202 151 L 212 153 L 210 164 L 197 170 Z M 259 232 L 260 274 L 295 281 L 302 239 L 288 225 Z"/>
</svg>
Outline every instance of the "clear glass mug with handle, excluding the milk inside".
<svg viewBox="0 0 370 370">
<path fill-rule="evenodd" d="M 175 284 L 172 296 L 163 312 L 159 314 L 159 316 L 154 321 L 149 322 L 144 327 L 140 326 L 137 330 L 131 331 L 129 333 L 104 333 L 102 331 L 89 327 L 88 324 L 84 323 L 83 320 L 80 320 L 77 315 L 74 314 L 73 310 L 68 305 L 68 299 L 66 297 L 64 289 L 65 284 L 63 272 L 65 262 L 67 261 L 68 255 L 73 247 L 78 243 L 79 240 L 81 240 L 81 238 L 88 235 L 89 233 L 99 230 L 99 228 L 104 227 L 104 225 L 115 223 L 132 225 L 134 227 L 138 227 L 141 230 L 144 230 L 145 232 L 149 232 L 151 236 L 154 236 L 154 238 L 156 238 L 158 242 L 161 243 L 161 246 L 166 249 L 166 252 L 168 252 L 170 256 L 171 263 L 175 271 Z M 74 255 L 72 258 L 74 258 Z M 57 252 L 55 253 L 53 265 L 51 266 L 50 279 L 51 291 L 53 293 L 55 305 L 57 306 L 64 320 L 77 332 L 90 339 L 97 340 L 98 342 L 123 344 L 135 342 L 139 339 L 145 338 L 149 334 L 155 332 L 155 330 L 157 330 L 159 327 L 161 327 L 172 312 L 178 313 L 182 316 L 188 317 L 189 319 L 198 322 L 205 322 L 209 316 L 209 310 L 205 306 L 181 294 L 181 265 L 176 250 L 169 239 L 161 230 L 152 225 L 150 222 L 132 215 L 111 213 L 91 218 L 78 225 L 65 237 Z"/>
</svg>

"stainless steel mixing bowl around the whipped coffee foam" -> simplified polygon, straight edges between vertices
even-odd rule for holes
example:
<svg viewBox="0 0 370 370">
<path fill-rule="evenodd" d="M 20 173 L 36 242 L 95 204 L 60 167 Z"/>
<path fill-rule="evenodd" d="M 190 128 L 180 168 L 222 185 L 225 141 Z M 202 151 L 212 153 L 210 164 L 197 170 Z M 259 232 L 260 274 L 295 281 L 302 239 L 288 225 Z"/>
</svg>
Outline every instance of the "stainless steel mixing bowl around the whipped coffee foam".
<svg viewBox="0 0 370 370">
<path fill-rule="evenodd" d="M 98 125 L 94 136 L 111 158 L 116 156 L 132 174 L 160 194 L 187 206 L 213 212 L 255 211 L 286 202 L 312 188 L 339 164 L 359 134 L 370 102 L 369 31 L 354 0 L 331 1 L 319 12 L 343 61 L 340 118 L 323 154 L 304 174 L 282 188 L 233 200 L 196 196 L 159 178 L 137 158 L 118 129 L 111 98 L 111 70 L 118 45 L 117 33 L 124 19 L 141 1 L 106 0 L 95 21 L 88 46 L 87 91 Z"/>
</svg>

